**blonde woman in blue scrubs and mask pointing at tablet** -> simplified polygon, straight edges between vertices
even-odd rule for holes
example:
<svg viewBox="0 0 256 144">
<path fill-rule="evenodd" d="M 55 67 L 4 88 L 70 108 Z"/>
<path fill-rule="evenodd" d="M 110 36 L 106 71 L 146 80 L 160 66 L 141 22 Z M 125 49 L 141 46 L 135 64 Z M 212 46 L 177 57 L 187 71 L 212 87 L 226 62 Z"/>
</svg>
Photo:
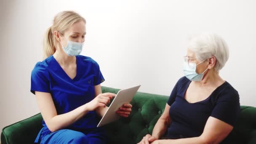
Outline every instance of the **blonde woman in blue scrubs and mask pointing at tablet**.
<svg viewBox="0 0 256 144">
<path fill-rule="evenodd" d="M 101 93 L 104 77 L 96 61 L 79 55 L 85 42 L 85 19 L 62 11 L 48 28 L 44 49 L 47 57 L 37 62 L 31 74 L 43 116 L 43 128 L 35 142 L 44 144 L 105 144 L 103 128 L 96 128 L 114 93 Z M 117 114 L 128 117 L 131 104 Z"/>
</svg>

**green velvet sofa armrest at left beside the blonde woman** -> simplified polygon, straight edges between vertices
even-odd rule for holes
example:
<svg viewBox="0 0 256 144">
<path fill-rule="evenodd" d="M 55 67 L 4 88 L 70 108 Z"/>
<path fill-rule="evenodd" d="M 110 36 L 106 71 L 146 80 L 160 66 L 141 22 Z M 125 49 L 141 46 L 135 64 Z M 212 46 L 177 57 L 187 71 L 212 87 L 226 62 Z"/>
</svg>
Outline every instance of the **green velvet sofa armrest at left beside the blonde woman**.
<svg viewBox="0 0 256 144">
<path fill-rule="evenodd" d="M 39 113 L 3 128 L 1 144 L 32 144 L 40 131 L 43 117 Z"/>
</svg>

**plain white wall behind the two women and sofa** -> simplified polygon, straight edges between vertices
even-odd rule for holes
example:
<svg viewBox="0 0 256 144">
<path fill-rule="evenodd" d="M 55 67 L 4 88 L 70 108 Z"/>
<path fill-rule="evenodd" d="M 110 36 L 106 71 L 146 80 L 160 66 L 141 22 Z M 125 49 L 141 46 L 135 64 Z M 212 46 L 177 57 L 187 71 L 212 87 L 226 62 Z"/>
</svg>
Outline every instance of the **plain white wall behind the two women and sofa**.
<svg viewBox="0 0 256 144">
<path fill-rule="evenodd" d="M 2 0 L 0 5 L 0 128 L 39 112 L 30 73 L 43 56 L 43 35 L 59 11 L 87 20 L 83 55 L 91 56 L 102 84 L 169 95 L 183 76 L 190 34 L 215 32 L 230 57 L 221 76 L 256 106 L 256 1 L 254 0 Z"/>
</svg>

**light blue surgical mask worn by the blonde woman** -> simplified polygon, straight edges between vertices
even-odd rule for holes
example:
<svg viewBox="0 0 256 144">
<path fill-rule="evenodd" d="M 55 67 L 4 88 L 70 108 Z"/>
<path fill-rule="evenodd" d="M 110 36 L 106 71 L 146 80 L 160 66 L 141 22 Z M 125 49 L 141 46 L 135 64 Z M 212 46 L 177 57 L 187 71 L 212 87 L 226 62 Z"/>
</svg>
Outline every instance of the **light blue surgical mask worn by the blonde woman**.
<svg viewBox="0 0 256 144">
<path fill-rule="evenodd" d="M 64 37 L 64 39 L 67 40 L 65 37 Z M 61 45 L 62 45 L 62 43 L 61 43 Z M 84 45 L 84 43 L 77 43 L 77 42 L 72 42 L 72 41 L 67 40 L 66 48 L 63 45 L 62 45 L 62 48 L 68 56 L 77 56 L 82 52 L 83 45 Z"/>
</svg>

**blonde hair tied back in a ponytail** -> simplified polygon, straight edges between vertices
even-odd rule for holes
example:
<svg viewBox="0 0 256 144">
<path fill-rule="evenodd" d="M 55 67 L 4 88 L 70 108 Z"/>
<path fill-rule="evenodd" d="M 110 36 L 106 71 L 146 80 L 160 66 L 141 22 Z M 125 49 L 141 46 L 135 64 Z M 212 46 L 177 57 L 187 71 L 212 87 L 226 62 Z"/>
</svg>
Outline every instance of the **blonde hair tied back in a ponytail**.
<svg viewBox="0 0 256 144">
<path fill-rule="evenodd" d="M 45 34 L 43 43 L 45 58 L 51 56 L 56 51 L 56 37 L 53 32 L 59 31 L 63 34 L 66 29 L 78 21 L 86 23 L 85 19 L 74 11 L 61 11 L 56 14 L 52 26 L 47 29 Z"/>
</svg>

